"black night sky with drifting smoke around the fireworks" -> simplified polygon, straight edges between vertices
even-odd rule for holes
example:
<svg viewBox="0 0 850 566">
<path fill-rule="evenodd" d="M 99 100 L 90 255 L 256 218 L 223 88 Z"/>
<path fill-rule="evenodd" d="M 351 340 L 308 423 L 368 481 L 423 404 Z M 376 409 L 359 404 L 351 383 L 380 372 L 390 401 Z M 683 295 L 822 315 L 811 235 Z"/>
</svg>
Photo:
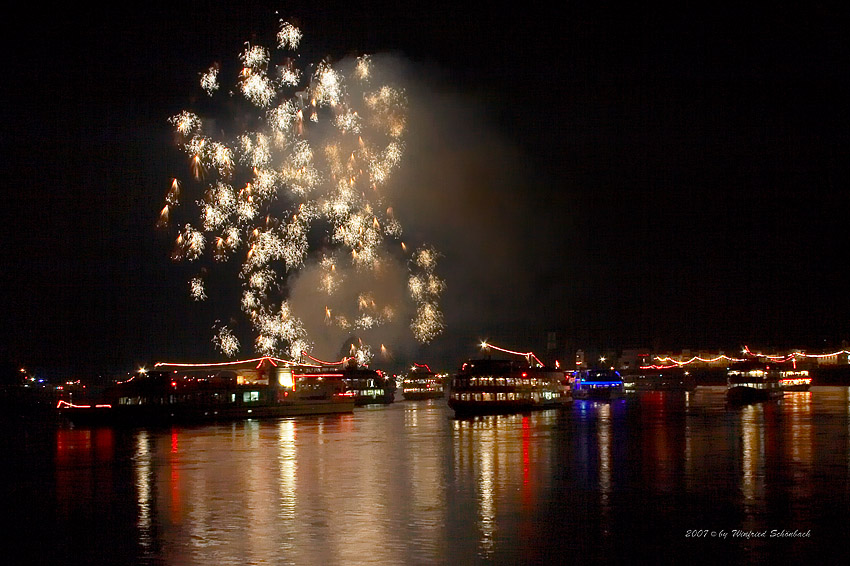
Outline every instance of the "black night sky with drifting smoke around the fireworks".
<svg viewBox="0 0 850 566">
<path fill-rule="evenodd" d="M 433 187 L 399 208 L 447 284 L 419 359 L 550 330 L 587 348 L 850 339 L 847 8 L 115 4 L 4 23 L 4 362 L 214 357 L 155 229 L 183 163 L 167 119 L 282 18 L 310 60 L 394 53 L 439 108 L 409 149 L 451 165 L 401 176 Z"/>
</svg>

